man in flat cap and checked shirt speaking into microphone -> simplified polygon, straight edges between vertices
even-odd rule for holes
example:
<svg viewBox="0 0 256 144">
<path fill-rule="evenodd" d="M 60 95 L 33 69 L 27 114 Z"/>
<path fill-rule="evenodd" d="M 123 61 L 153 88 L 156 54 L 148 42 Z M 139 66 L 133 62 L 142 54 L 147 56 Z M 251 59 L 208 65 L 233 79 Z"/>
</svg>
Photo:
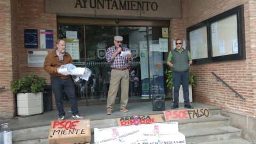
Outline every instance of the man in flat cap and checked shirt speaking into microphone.
<svg viewBox="0 0 256 144">
<path fill-rule="evenodd" d="M 128 102 L 129 93 L 129 69 L 130 63 L 132 62 L 132 54 L 122 55 L 122 51 L 130 51 L 127 47 L 122 47 L 123 37 L 115 36 L 114 44 L 108 47 L 106 59 L 111 63 L 111 77 L 108 91 L 107 100 L 107 115 L 111 115 L 114 110 L 114 104 L 116 101 L 116 94 L 121 82 L 121 102 L 120 111 L 124 113 L 129 110 L 126 108 Z M 122 56 L 121 56 L 122 55 Z"/>
</svg>

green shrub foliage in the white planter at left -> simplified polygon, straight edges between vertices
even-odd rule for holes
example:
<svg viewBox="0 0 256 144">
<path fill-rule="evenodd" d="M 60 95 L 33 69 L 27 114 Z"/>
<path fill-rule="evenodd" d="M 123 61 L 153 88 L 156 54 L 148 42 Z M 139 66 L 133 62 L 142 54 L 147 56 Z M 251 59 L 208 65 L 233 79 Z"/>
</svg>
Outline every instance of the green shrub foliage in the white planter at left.
<svg viewBox="0 0 256 144">
<path fill-rule="evenodd" d="M 11 91 L 13 93 L 44 92 L 44 85 L 46 85 L 46 79 L 44 77 L 38 77 L 31 73 L 28 76 L 21 77 L 20 79 L 12 79 Z"/>
</svg>

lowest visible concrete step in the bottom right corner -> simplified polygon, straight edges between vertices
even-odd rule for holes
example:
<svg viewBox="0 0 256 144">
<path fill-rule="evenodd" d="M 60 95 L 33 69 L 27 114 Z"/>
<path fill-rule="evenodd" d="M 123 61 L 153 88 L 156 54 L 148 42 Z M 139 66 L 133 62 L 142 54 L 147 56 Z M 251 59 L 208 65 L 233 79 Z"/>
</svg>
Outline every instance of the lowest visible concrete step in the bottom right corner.
<svg viewBox="0 0 256 144">
<path fill-rule="evenodd" d="M 247 141 L 245 139 L 230 139 L 230 140 L 219 140 L 219 141 L 211 141 L 211 142 L 200 142 L 198 144 L 252 144 L 253 142 Z"/>
</svg>

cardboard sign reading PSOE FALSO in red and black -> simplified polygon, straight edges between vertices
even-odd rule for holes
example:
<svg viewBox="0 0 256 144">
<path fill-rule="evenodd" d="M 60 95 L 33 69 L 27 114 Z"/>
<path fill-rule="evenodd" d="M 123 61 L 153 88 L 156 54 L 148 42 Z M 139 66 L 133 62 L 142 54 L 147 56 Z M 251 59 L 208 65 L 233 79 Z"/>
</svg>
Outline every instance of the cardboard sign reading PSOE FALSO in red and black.
<svg viewBox="0 0 256 144">
<path fill-rule="evenodd" d="M 199 117 L 210 117 L 207 108 L 183 109 L 183 110 L 166 110 L 163 111 L 165 121 L 175 121 L 178 119 L 192 119 Z"/>
</svg>

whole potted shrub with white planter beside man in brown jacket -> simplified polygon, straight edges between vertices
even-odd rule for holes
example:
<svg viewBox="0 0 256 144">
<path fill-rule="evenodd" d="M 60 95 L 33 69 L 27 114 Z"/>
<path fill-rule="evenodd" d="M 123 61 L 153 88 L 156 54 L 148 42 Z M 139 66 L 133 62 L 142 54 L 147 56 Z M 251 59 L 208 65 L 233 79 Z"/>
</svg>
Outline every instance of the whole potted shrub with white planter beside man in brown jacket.
<svg viewBox="0 0 256 144">
<path fill-rule="evenodd" d="M 20 79 L 12 79 L 11 91 L 17 94 L 18 115 L 43 113 L 43 92 L 46 79 L 31 73 Z"/>
</svg>

